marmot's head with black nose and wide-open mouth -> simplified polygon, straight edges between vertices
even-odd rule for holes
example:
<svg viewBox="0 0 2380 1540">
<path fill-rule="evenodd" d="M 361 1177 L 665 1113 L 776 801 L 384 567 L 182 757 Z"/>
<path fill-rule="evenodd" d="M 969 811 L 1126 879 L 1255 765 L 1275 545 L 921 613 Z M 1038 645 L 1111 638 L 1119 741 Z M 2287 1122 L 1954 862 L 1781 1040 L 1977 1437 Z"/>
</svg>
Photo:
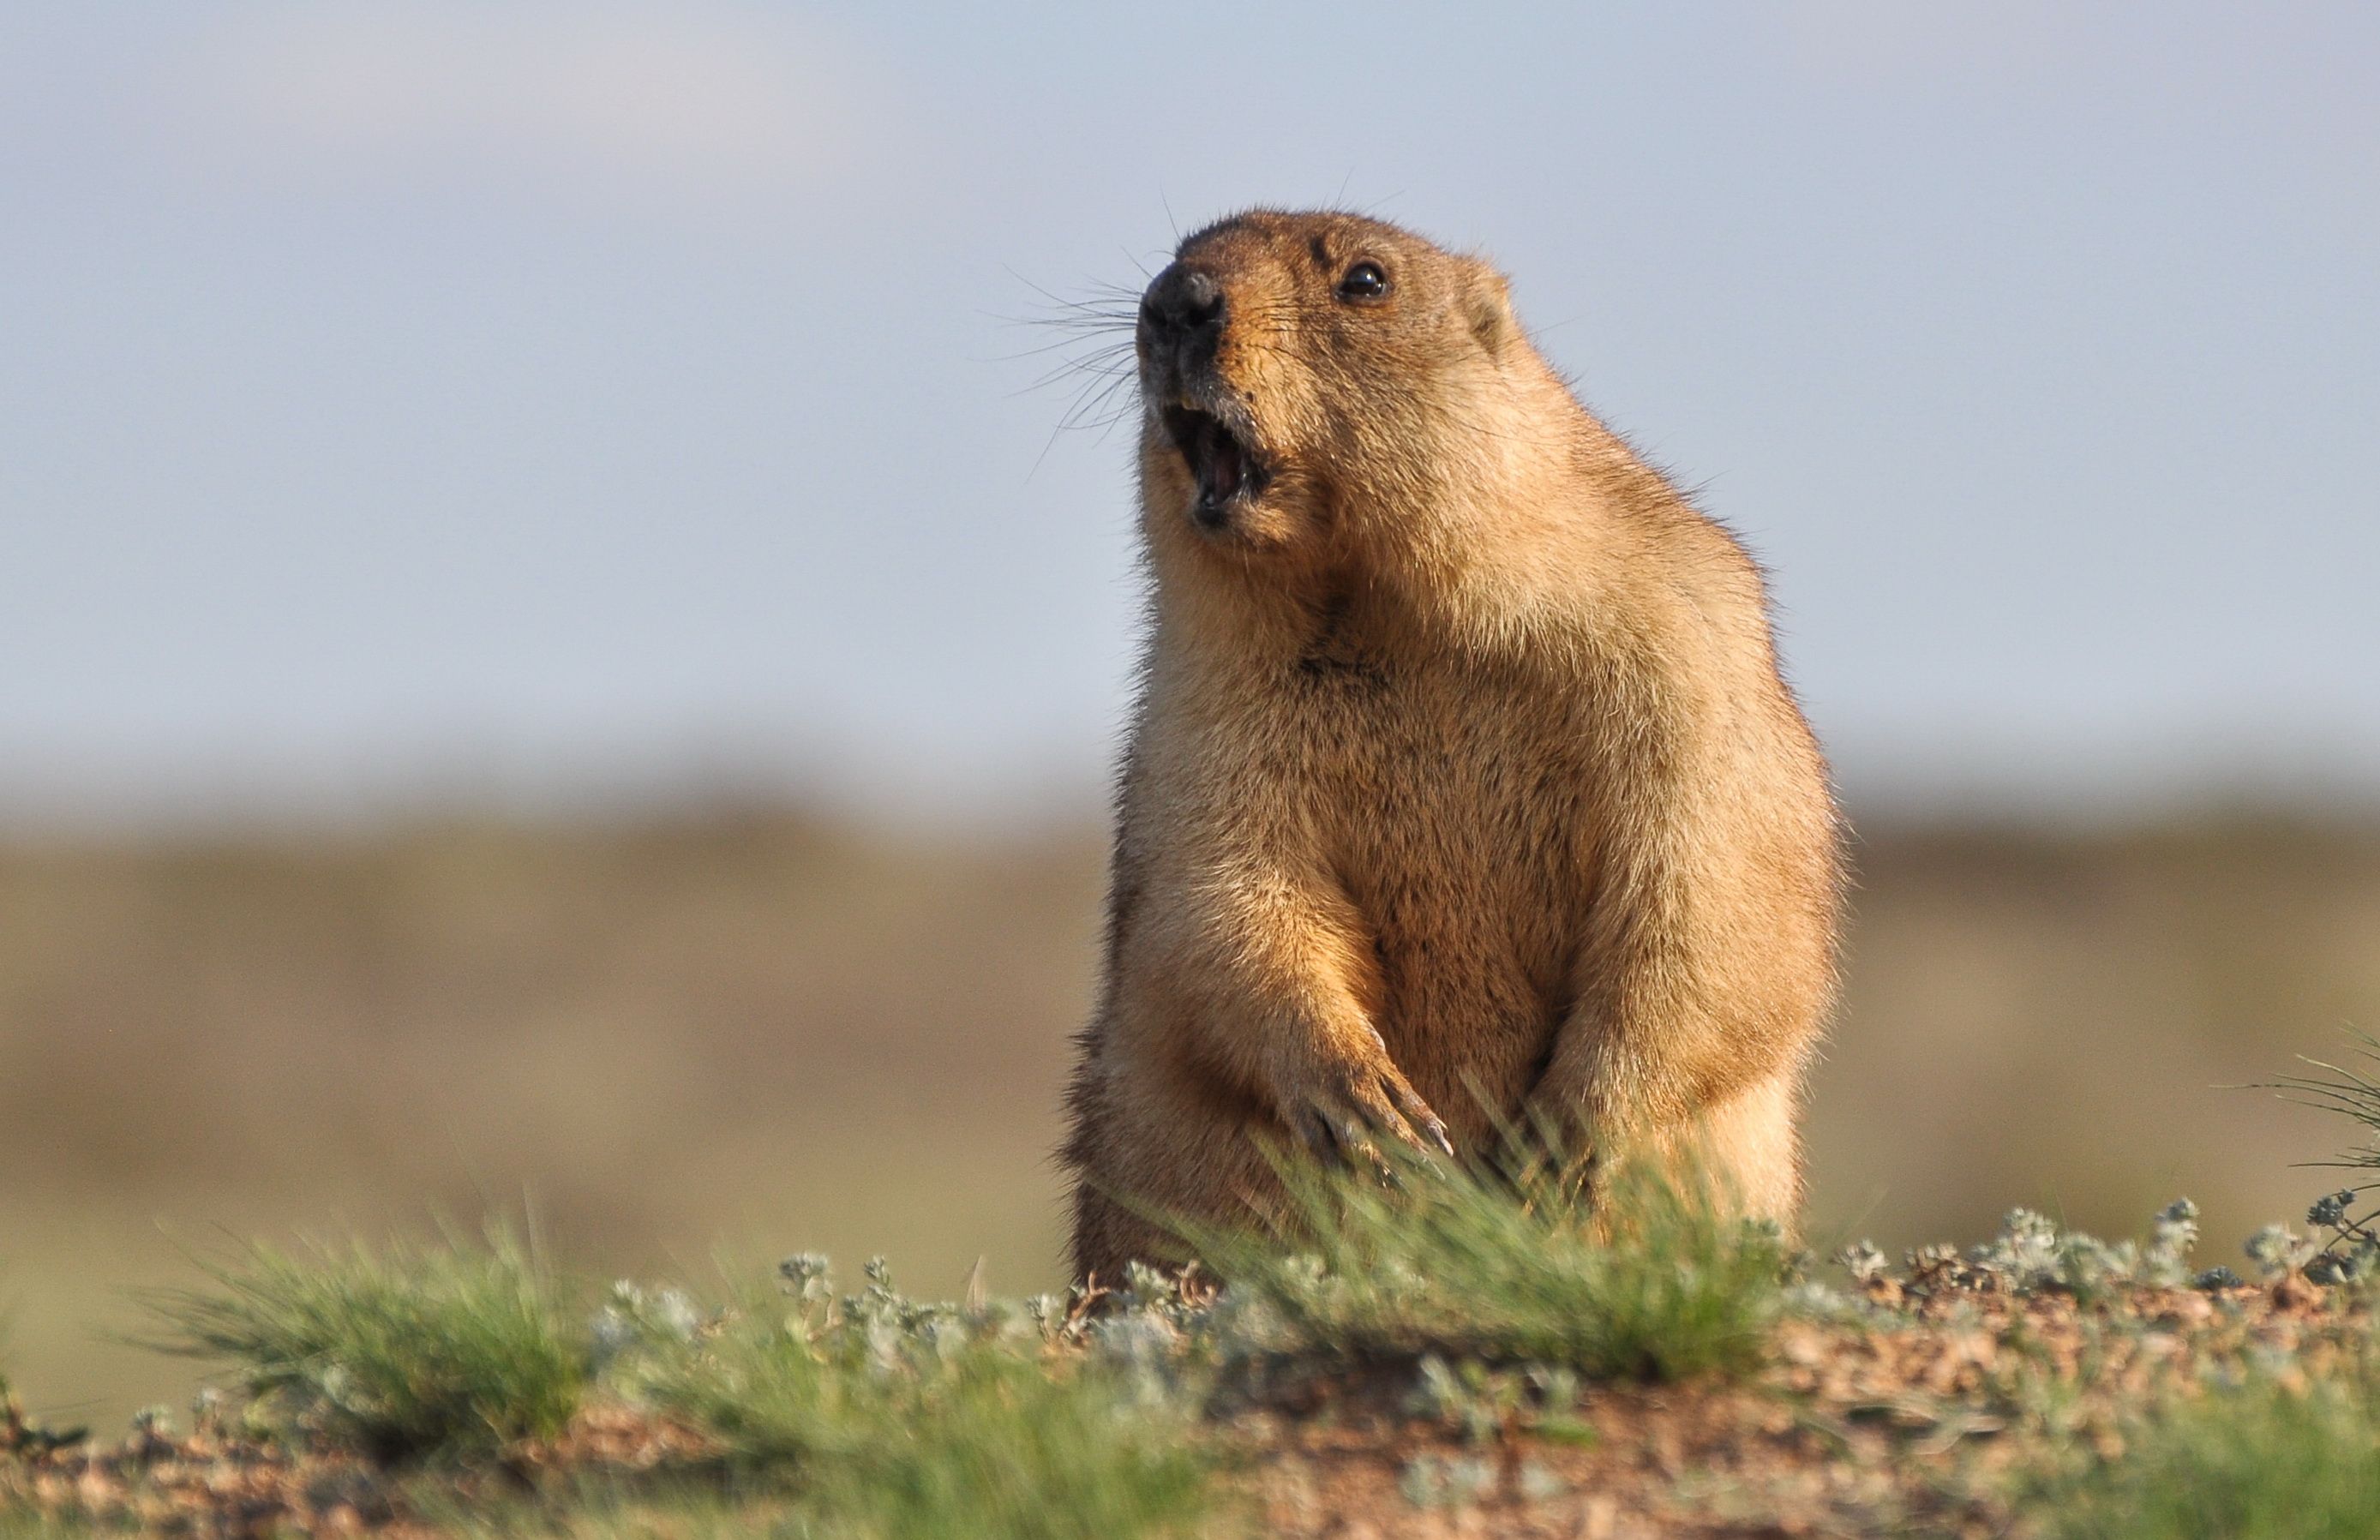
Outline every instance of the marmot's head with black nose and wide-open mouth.
<svg viewBox="0 0 2380 1540">
<path fill-rule="evenodd" d="M 1247 555 L 1321 555 L 1442 495 L 1499 433 L 1528 352 L 1485 262 L 1269 209 L 1183 240 L 1135 343 L 1147 519 Z"/>
</svg>

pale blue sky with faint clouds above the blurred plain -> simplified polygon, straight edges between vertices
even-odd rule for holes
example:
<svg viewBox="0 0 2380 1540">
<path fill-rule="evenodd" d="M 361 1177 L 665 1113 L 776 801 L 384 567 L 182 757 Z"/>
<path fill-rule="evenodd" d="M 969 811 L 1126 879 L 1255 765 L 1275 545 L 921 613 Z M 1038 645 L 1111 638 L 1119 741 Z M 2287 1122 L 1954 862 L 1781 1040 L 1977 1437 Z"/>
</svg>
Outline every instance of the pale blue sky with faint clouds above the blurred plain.
<svg viewBox="0 0 2380 1540">
<path fill-rule="evenodd" d="M 1033 283 L 1373 207 L 1775 571 L 1866 797 L 2380 795 L 2380 10 L 0 12 L 0 816 L 1095 805 Z"/>
</svg>

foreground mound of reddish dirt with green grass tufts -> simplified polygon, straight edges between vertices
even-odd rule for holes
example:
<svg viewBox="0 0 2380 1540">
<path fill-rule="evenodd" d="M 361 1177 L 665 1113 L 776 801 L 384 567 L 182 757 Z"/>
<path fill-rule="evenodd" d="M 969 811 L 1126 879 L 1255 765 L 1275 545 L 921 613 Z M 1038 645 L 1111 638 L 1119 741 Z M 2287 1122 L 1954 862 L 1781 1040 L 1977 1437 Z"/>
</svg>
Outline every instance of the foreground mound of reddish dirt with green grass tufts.
<svg viewBox="0 0 2380 1540">
<path fill-rule="evenodd" d="M 2194 1262 L 2175 1202 L 2142 1240 L 2018 1209 L 1828 1281 L 1699 1183 L 1388 1159 L 1285 1169 L 1269 1231 L 1185 1231 L 1226 1288 L 938 1302 L 804 1254 L 697 1300 L 505 1228 L 250 1247 L 152 1300 L 248 1400 L 117 1447 L 12 1409 L 0 1533 L 2370 1530 L 2359 1190 L 2249 1238 L 2249 1278 Z"/>
</svg>

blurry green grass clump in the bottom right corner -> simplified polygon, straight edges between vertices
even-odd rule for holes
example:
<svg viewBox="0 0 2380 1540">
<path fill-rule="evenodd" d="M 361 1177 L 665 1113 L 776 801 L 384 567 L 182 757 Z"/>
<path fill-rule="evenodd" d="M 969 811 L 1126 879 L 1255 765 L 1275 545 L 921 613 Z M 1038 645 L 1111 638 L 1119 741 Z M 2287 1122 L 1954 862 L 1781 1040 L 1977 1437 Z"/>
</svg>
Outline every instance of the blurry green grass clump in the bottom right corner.
<svg viewBox="0 0 2380 1540">
<path fill-rule="evenodd" d="M 2363 1540 L 2380 1504 L 2373 1411 L 2368 1376 L 2211 1388 L 2052 1490 L 2042 1514 L 2059 1540 Z"/>
</svg>

